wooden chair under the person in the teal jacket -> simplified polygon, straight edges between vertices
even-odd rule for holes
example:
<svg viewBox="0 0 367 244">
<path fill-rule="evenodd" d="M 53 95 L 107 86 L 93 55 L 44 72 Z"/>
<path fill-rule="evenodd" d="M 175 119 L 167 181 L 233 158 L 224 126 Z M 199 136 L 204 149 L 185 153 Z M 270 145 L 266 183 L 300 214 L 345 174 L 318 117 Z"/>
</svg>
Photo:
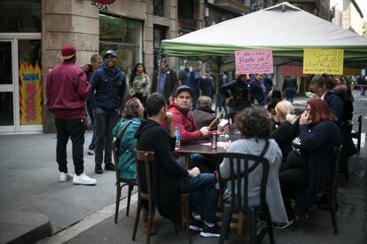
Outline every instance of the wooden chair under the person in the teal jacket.
<svg viewBox="0 0 367 244">
<path fill-rule="evenodd" d="M 114 140 L 112 143 L 112 151 L 113 151 L 113 161 L 114 161 L 114 170 L 116 172 L 116 207 L 114 210 L 114 223 L 117 223 L 117 218 L 119 216 L 119 207 L 121 201 L 121 191 L 124 186 L 129 186 L 128 189 L 128 203 L 126 207 L 126 216 L 129 216 L 129 209 L 130 209 L 130 200 L 131 200 L 131 193 L 134 189 L 134 186 L 138 185 L 137 179 L 129 180 L 120 177 L 120 169 L 118 167 L 119 161 L 117 157 L 117 148 L 116 148 L 116 141 Z"/>
</svg>

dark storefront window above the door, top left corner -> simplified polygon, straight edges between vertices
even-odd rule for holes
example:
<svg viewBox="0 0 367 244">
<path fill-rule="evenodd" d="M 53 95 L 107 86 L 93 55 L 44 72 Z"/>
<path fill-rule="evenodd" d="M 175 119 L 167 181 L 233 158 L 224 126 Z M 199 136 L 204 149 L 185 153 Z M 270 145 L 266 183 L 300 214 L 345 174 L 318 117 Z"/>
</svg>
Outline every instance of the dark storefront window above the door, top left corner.
<svg viewBox="0 0 367 244">
<path fill-rule="evenodd" d="M 0 32 L 41 32 L 41 1 L 0 1 Z"/>
</svg>

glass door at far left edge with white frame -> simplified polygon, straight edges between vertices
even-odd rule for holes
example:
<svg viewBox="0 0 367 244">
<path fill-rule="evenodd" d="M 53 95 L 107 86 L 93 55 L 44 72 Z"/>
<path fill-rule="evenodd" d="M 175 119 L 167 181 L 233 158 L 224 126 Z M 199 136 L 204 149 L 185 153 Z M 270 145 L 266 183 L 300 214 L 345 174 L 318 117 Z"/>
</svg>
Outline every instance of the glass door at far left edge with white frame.
<svg viewBox="0 0 367 244">
<path fill-rule="evenodd" d="M 0 132 L 15 131 L 14 42 L 0 40 Z"/>
</svg>

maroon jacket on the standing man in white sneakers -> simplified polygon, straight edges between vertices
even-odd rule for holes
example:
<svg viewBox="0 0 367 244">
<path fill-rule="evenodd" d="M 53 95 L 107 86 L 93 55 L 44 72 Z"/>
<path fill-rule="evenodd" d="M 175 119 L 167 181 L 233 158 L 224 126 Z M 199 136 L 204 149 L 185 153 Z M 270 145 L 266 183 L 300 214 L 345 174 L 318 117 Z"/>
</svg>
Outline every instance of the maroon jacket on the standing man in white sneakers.
<svg viewBox="0 0 367 244">
<path fill-rule="evenodd" d="M 58 119 L 85 118 L 85 99 L 91 87 L 82 68 L 62 63 L 47 75 L 47 106 Z"/>
</svg>

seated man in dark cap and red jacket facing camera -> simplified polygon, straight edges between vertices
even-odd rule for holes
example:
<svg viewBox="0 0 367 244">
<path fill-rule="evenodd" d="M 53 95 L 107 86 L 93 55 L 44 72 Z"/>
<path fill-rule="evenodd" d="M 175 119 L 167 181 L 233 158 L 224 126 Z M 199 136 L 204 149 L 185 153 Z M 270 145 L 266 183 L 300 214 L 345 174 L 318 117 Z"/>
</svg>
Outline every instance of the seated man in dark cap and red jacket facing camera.
<svg viewBox="0 0 367 244">
<path fill-rule="evenodd" d="M 194 92 L 189 86 L 179 86 L 176 89 L 175 100 L 171 101 L 168 106 L 168 112 L 172 114 L 173 126 L 178 127 L 178 130 L 180 131 L 181 144 L 190 144 L 200 139 L 210 138 L 211 136 L 210 128 L 208 126 L 201 127 L 198 130 L 195 125 L 190 111 L 193 96 Z M 163 122 L 162 125 L 166 128 L 168 127 L 166 122 Z M 174 155 L 178 157 L 178 161 L 183 162 L 183 156 L 179 153 L 174 153 Z M 203 172 L 215 171 L 215 163 L 198 153 L 191 153 L 191 161 L 193 162 L 193 165 L 199 165 L 199 168 Z"/>
</svg>

